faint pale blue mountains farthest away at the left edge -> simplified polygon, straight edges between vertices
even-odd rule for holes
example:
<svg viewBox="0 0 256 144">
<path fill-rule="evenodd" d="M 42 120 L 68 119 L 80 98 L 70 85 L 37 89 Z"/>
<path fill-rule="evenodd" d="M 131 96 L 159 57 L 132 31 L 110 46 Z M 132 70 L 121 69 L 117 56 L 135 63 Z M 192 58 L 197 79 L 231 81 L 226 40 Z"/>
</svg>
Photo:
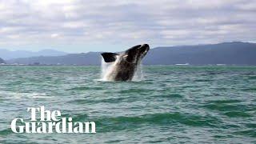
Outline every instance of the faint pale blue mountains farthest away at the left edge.
<svg viewBox="0 0 256 144">
<path fill-rule="evenodd" d="M 13 59 L 13 58 L 29 58 L 37 56 L 61 56 L 66 55 L 65 52 L 57 50 L 40 50 L 37 52 L 31 52 L 26 50 L 10 51 L 6 49 L 0 49 L 0 58 Z"/>
</svg>

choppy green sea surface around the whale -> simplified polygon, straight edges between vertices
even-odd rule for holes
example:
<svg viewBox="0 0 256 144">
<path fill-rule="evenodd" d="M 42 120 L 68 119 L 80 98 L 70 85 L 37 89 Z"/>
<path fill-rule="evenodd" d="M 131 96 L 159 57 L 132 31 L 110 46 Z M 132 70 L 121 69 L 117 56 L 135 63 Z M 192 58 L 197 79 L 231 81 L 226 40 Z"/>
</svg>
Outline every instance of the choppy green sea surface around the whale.
<svg viewBox="0 0 256 144">
<path fill-rule="evenodd" d="M 0 143 L 255 143 L 256 66 L 143 66 L 102 82 L 100 66 L 0 66 Z M 96 134 L 14 134 L 27 107 L 96 122 Z"/>
</svg>

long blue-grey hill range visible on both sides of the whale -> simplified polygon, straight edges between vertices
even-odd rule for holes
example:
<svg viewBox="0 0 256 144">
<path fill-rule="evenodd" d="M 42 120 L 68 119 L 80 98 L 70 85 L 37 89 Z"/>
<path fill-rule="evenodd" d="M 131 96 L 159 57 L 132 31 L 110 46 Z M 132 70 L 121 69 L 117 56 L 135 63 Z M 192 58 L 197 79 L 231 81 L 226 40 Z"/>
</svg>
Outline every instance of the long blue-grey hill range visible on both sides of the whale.
<svg viewBox="0 0 256 144">
<path fill-rule="evenodd" d="M 99 52 L 66 54 L 57 57 L 16 58 L 8 63 L 100 65 Z M 146 65 L 256 65 L 256 44 L 248 42 L 224 42 L 198 46 L 170 46 L 151 49 L 143 59 Z"/>
</svg>

